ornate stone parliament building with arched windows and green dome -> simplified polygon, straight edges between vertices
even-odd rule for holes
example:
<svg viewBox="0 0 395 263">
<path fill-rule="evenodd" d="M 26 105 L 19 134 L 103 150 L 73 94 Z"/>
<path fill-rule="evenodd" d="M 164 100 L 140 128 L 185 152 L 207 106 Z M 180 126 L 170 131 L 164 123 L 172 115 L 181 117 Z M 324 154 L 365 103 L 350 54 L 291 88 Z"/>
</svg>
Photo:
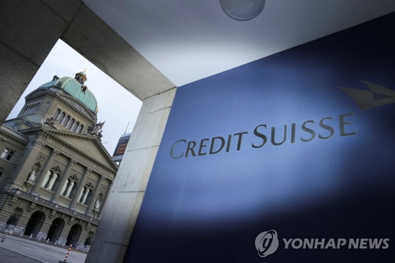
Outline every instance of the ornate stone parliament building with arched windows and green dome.
<svg viewBox="0 0 395 263">
<path fill-rule="evenodd" d="M 54 76 L 0 128 L 0 225 L 14 234 L 90 245 L 118 171 L 85 85 Z"/>
</svg>

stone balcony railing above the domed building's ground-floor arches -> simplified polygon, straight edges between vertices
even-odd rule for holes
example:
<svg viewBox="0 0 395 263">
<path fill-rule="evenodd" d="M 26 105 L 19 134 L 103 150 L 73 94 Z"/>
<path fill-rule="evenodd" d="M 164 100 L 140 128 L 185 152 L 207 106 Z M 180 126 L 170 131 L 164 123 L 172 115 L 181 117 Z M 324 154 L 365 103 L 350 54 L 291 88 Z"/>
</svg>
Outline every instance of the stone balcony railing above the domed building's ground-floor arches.
<svg viewBox="0 0 395 263">
<path fill-rule="evenodd" d="M 64 206 L 52 203 L 51 201 L 42 199 L 42 198 L 40 198 L 38 196 L 26 193 L 26 192 L 21 191 L 19 189 L 18 190 L 17 189 L 12 189 L 11 193 L 14 194 L 14 195 L 23 197 L 23 198 L 25 198 L 27 200 L 34 201 L 34 202 L 39 203 L 41 205 L 44 205 L 46 207 L 50 207 L 50 208 L 56 209 L 56 210 L 61 211 L 61 212 L 65 213 L 65 214 L 68 214 L 70 216 L 73 216 L 73 217 L 76 217 L 76 218 L 79 218 L 79 219 L 83 219 L 83 220 L 86 220 L 86 221 L 94 223 L 94 224 L 98 224 L 99 223 L 98 219 L 95 219 L 95 218 L 89 217 L 87 215 L 81 214 L 81 213 L 79 213 L 77 211 L 74 211 L 74 210 L 71 210 L 71 209 L 69 209 L 67 207 L 64 207 Z"/>
</svg>

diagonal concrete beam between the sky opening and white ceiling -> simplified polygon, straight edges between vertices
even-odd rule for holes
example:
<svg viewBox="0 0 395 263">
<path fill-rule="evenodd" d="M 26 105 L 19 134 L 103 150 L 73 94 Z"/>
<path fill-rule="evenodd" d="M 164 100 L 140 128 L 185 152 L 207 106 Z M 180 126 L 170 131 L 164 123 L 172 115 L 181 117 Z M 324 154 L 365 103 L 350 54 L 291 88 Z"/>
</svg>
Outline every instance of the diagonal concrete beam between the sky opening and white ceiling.
<svg viewBox="0 0 395 263">
<path fill-rule="evenodd" d="M 86 5 L 62 40 L 140 100 L 175 87 Z"/>
</svg>

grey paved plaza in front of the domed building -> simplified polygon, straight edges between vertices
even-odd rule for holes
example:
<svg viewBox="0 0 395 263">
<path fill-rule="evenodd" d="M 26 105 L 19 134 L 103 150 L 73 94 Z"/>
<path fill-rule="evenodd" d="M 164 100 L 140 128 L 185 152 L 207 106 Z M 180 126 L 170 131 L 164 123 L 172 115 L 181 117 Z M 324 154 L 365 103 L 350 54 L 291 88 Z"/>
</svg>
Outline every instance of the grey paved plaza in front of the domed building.
<svg viewBox="0 0 395 263">
<path fill-rule="evenodd" d="M 68 247 L 59 247 L 17 236 L 7 236 L 0 243 L 0 262 L 6 263 L 58 263 L 64 261 Z M 69 263 L 85 262 L 87 253 L 70 251 Z"/>
</svg>

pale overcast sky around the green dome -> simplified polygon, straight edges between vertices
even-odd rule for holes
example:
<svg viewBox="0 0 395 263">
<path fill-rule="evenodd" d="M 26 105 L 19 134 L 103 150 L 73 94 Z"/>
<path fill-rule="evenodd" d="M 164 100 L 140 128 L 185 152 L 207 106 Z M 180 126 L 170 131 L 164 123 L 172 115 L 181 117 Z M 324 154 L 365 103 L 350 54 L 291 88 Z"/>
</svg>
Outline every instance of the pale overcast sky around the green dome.
<svg viewBox="0 0 395 263">
<path fill-rule="evenodd" d="M 130 124 L 126 133 L 132 131 L 142 102 L 61 40 L 42 63 L 7 119 L 15 118 L 25 105 L 25 96 L 42 84 L 50 82 L 54 75 L 59 78 L 74 78 L 84 68 L 87 69 L 85 85 L 95 95 L 99 107 L 97 121 L 106 121 L 102 143 L 112 156 L 119 136 L 125 132 L 128 122 Z"/>
</svg>

